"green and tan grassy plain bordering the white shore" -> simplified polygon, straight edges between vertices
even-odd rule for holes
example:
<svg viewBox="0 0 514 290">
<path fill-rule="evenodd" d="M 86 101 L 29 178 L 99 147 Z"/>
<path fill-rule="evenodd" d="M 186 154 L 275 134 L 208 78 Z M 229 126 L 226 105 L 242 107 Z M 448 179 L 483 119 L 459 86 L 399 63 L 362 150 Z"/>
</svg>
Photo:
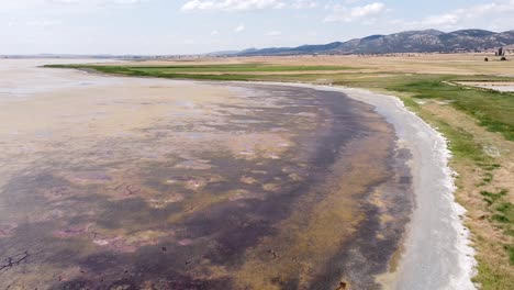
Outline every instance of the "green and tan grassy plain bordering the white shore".
<svg viewBox="0 0 514 290">
<path fill-rule="evenodd" d="M 513 81 L 514 62 L 485 55 L 194 58 L 53 66 L 137 77 L 286 81 L 400 97 L 449 140 L 458 201 L 468 209 L 482 289 L 514 285 L 514 92 L 461 81 Z"/>
</svg>

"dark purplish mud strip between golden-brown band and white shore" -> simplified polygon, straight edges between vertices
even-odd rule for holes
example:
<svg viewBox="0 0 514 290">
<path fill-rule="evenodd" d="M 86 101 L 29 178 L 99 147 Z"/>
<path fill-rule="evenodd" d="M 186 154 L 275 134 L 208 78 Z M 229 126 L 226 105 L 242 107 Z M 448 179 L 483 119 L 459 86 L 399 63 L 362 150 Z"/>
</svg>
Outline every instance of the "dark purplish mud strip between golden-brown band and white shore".
<svg viewBox="0 0 514 290">
<path fill-rule="evenodd" d="M 350 285 L 348 289 L 381 289 L 376 278 L 391 270 L 414 208 L 412 176 L 406 164 L 411 157 L 406 149 L 390 153 L 388 181 L 366 194 L 370 199 L 379 190 L 383 204 L 364 204 L 366 220 L 356 236 L 342 245 L 342 250 L 323 267 L 323 275 L 311 289 L 337 289 L 340 283 Z M 380 220 L 383 216 L 393 220 L 384 224 Z"/>
</svg>

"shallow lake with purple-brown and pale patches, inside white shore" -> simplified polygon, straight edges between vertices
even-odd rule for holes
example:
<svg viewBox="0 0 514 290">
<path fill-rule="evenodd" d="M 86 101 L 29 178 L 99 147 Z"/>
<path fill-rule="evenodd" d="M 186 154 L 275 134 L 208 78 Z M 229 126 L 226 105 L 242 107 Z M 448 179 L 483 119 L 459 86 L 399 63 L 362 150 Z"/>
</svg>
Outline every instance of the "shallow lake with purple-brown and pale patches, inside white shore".
<svg viewBox="0 0 514 290">
<path fill-rule="evenodd" d="M 413 194 L 372 107 L 9 62 L 1 287 L 380 288 Z"/>
</svg>

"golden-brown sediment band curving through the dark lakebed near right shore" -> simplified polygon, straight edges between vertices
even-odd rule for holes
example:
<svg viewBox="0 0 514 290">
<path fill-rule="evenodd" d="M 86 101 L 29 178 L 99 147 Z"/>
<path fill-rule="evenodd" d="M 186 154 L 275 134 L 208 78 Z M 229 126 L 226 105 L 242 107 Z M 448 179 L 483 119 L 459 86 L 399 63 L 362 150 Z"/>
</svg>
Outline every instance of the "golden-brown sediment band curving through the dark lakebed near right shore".
<svg viewBox="0 0 514 290">
<path fill-rule="evenodd" d="M 359 200 L 369 187 L 386 178 L 383 160 L 390 146 L 383 140 L 387 135 L 377 134 L 347 146 L 322 188 L 310 190 L 298 201 L 295 212 L 278 225 L 280 234 L 264 238 L 245 254 L 245 264 L 236 274 L 236 288 L 281 289 L 293 283 L 295 289 L 310 289 L 319 276 L 326 274 L 326 263 L 345 248 L 367 219 Z M 377 143 L 379 140 L 382 142 Z M 324 191 L 328 193 L 321 193 Z M 304 205 L 320 194 L 323 199 L 313 208 Z M 339 266 L 331 265 L 331 270 L 344 264 L 339 260 Z M 325 282 L 324 287 L 329 287 L 333 281 Z"/>
</svg>

